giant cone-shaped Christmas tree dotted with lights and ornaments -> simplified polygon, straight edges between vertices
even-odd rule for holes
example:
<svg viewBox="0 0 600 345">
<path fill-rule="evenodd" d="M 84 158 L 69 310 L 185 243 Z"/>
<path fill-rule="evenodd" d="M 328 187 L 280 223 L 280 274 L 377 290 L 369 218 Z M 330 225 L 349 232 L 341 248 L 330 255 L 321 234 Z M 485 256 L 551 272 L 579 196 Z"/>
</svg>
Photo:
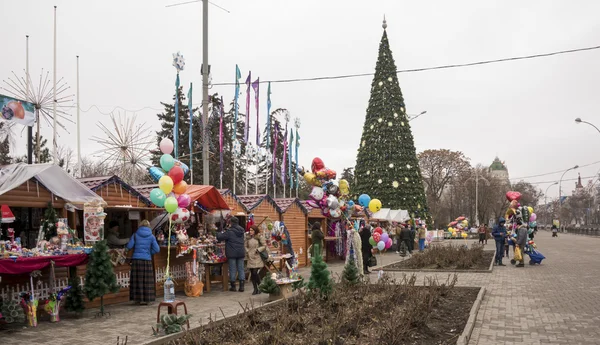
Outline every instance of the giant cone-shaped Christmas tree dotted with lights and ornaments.
<svg viewBox="0 0 600 345">
<path fill-rule="evenodd" d="M 428 218 L 427 199 L 386 24 L 356 159 L 356 193 Z"/>
</svg>

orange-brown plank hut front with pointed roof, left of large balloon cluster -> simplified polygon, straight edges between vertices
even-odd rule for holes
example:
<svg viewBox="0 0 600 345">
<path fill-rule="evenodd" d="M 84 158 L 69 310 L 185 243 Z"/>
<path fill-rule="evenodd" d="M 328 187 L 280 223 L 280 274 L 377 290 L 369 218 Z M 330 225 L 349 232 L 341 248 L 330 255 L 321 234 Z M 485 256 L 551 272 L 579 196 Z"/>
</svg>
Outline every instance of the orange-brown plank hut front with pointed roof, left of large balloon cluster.
<svg viewBox="0 0 600 345">
<path fill-rule="evenodd" d="M 275 199 L 275 203 L 281 209 L 281 220 L 290 233 L 298 266 L 304 267 L 308 261 L 308 210 L 298 198 Z"/>
</svg>

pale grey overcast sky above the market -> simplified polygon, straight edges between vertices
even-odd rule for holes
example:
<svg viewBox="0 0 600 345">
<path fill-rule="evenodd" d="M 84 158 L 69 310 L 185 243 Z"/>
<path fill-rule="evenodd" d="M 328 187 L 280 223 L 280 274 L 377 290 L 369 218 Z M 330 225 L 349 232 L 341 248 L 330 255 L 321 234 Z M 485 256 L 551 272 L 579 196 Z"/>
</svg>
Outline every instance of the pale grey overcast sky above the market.
<svg viewBox="0 0 600 345">
<path fill-rule="evenodd" d="M 588 1 L 397 1 L 213 0 L 209 9 L 213 82 L 232 82 L 235 64 L 243 79 L 374 72 L 383 14 L 399 69 L 465 63 L 600 45 L 600 2 Z M 30 73 L 52 68 L 53 5 L 58 5 L 58 74 L 72 87 L 80 55 L 82 148 L 102 135 L 98 121 L 115 107 L 137 112 L 158 127 L 160 101 L 174 93 L 171 54 L 181 51 L 182 85 L 195 84 L 200 103 L 202 4 L 166 8 L 177 0 L 0 0 L 4 52 L 0 79 L 25 65 L 30 35 Z M 575 117 L 600 126 L 600 50 L 486 66 L 400 75 L 418 151 L 463 151 L 474 164 L 497 154 L 511 177 L 544 174 L 598 159 L 600 134 Z M 300 117 L 301 164 L 320 156 L 338 172 L 353 166 L 372 77 L 272 85 L 273 109 Z M 243 80 L 242 80 L 243 82 Z M 232 99 L 233 86 L 217 87 Z M 244 108 L 244 98 L 240 106 Z M 88 110 L 89 109 L 89 110 Z M 71 113 L 75 118 L 75 109 Z M 128 115 L 130 113 L 127 113 Z M 254 113 L 253 113 L 254 114 Z M 261 85 L 261 117 L 266 85 Z M 60 144 L 75 147 L 75 126 Z M 251 131 L 253 133 L 253 131 Z M 21 135 L 21 132 L 18 133 Z M 51 136 L 48 127 L 43 134 Z M 19 139 L 24 151 L 25 132 Z M 600 163 L 582 168 L 596 175 Z M 565 178 L 574 178 L 576 172 Z M 528 179 L 558 180 L 559 174 Z M 572 182 L 567 182 L 570 192 Z M 546 188 L 548 184 L 539 184 Z M 565 188 L 565 187 L 563 187 Z M 556 196 L 558 188 L 552 187 Z"/>
</svg>

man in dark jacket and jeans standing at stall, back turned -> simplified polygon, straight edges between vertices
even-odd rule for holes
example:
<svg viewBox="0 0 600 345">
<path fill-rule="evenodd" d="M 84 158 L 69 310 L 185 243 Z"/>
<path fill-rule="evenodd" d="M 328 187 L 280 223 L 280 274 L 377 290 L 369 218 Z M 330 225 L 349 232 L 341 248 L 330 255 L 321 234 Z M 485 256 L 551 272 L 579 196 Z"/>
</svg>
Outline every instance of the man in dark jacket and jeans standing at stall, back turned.
<svg viewBox="0 0 600 345">
<path fill-rule="evenodd" d="M 229 264 L 229 291 L 235 291 L 235 278 L 240 281 L 239 292 L 244 292 L 244 258 L 246 247 L 244 246 L 244 228 L 239 225 L 237 217 L 231 218 L 231 227 L 225 232 L 217 233 L 217 240 L 225 241 L 225 256 Z"/>
</svg>

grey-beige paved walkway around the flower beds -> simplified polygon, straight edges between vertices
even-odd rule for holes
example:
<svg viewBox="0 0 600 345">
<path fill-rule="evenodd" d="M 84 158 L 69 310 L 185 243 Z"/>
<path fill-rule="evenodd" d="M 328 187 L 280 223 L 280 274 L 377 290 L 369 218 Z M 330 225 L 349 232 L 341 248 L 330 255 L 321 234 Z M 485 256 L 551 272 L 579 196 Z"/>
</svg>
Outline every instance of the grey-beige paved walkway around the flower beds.
<svg viewBox="0 0 600 345">
<path fill-rule="evenodd" d="M 600 238 L 561 234 L 551 238 L 541 231 L 536 237 L 547 257 L 541 266 L 495 267 L 493 273 L 461 273 L 458 285 L 487 289 L 469 344 L 600 344 L 600 265 L 596 263 Z M 488 244 L 492 249 L 493 242 Z M 379 258 L 381 264 L 398 260 L 396 254 Z M 330 264 L 334 275 L 341 262 Z M 303 272 L 307 276 L 308 272 Z M 400 277 L 401 272 L 393 273 Z M 419 281 L 448 273 L 418 273 Z M 376 275 L 371 275 L 375 279 Z M 260 305 L 262 294 L 212 291 L 200 298 L 186 298 L 193 324 L 206 323 L 210 315 L 234 315 L 243 305 Z M 110 318 L 95 319 L 95 310 L 79 319 L 65 318 L 58 324 L 43 321 L 35 329 L 0 332 L 7 344 L 116 344 L 117 336 L 128 336 L 128 344 L 152 340 L 156 305 L 109 306 Z"/>
</svg>

